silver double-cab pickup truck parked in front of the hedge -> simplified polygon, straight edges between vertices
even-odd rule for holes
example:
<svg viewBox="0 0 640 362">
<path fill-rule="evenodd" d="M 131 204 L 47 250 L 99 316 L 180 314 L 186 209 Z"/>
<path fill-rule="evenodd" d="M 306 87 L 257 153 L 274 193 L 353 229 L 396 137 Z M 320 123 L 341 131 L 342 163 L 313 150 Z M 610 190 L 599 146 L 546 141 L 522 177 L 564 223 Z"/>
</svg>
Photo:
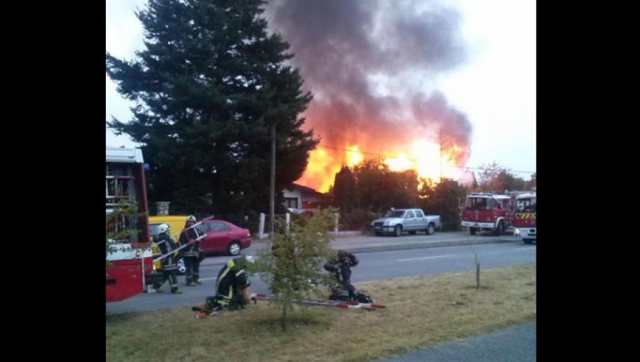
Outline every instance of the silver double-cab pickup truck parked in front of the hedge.
<svg viewBox="0 0 640 362">
<path fill-rule="evenodd" d="M 391 209 L 383 218 L 371 221 L 371 226 L 375 235 L 393 233 L 395 236 L 402 235 L 403 231 L 412 235 L 425 231 L 431 235 L 442 228 L 439 215 L 425 215 L 421 209 Z"/>
</svg>

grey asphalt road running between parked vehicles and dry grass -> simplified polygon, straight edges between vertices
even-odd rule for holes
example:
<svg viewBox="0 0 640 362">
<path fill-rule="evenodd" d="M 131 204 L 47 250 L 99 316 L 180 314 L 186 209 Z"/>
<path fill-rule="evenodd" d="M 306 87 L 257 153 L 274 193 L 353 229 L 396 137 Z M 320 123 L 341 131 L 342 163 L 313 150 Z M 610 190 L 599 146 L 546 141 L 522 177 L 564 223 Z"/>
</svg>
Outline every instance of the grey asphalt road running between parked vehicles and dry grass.
<svg viewBox="0 0 640 362">
<path fill-rule="evenodd" d="M 375 236 L 338 238 L 333 246 L 336 249 L 351 250 L 361 260 L 361 263 L 353 268 L 353 283 L 409 275 L 475 270 L 476 254 L 481 268 L 496 268 L 535 260 L 535 245 L 525 245 L 516 241 L 515 238 L 506 236 L 474 236 L 471 240 L 477 240 L 479 243 L 466 245 L 464 243 L 467 241 L 462 239 L 468 236 L 461 234 L 441 233 L 432 236 L 416 235 L 400 238 Z M 258 249 L 266 246 L 265 242 L 254 243 L 245 253 L 253 255 Z M 141 293 L 122 302 L 107 303 L 105 312 L 110 315 L 202 304 L 206 297 L 213 295 L 218 272 L 228 258 L 228 256 L 213 256 L 203 260 L 200 268 L 203 285 L 187 287 L 184 285 L 184 277 L 178 277 L 182 295 L 172 295 L 169 292 Z M 251 292 L 269 291 L 259 276 L 253 276 L 251 281 Z M 169 290 L 168 284 L 164 285 L 164 290 Z"/>
</svg>

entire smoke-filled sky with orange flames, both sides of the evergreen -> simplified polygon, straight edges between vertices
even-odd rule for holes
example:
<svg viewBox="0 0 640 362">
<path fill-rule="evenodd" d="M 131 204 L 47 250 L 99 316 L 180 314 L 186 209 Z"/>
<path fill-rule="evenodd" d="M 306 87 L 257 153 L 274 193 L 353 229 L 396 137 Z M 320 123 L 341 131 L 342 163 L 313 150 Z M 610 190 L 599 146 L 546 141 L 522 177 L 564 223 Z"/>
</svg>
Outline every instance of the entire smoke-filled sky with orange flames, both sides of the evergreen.
<svg viewBox="0 0 640 362">
<path fill-rule="evenodd" d="M 106 1 L 112 55 L 144 48 L 134 16 L 144 4 Z M 494 161 L 535 172 L 535 0 L 272 0 L 266 10 L 314 93 L 306 126 L 322 141 L 299 183 L 326 190 L 366 153 L 434 178 Z M 106 119 L 130 119 L 134 104 L 105 80 Z"/>
</svg>

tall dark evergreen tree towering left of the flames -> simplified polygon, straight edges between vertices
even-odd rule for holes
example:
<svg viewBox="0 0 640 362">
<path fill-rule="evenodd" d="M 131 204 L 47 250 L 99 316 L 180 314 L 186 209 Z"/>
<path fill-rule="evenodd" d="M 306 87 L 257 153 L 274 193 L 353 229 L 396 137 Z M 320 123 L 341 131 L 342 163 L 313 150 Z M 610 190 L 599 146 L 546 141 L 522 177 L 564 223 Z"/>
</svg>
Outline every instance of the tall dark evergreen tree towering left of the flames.
<svg viewBox="0 0 640 362">
<path fill-rule="evenodd" d="M 135 60 L 107 53 L 107 74 L 137 103 L 129 122 L 108 124 L 144 145 L 151 201 L 265 211 L 272 124 L 276 190 L 304 172 L 319 142 L 298 117 L 311 94 L 287 62 L 289 45 L 267 33 L 263 4 L 149 0 L 136 13 L 145 49 Z"/>
</svg>

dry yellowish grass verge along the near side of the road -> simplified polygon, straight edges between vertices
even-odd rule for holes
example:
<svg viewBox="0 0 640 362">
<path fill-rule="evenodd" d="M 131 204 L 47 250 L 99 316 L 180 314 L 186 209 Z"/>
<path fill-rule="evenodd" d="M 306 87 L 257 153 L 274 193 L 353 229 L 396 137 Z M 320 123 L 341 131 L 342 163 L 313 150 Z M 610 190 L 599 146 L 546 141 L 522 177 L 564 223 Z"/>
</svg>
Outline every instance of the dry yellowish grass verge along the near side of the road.
<svg viewBox="0 0 640 362">
<path fill-rule="evenodd" d="M 535 319 L 535 263 L 357 283 L 386 309 L 300 307 L 286 333 L 267 302 L 196 319 L 191 307 L 107 317 L 107 361 L 370 361 Z M 194 305 L 201 300 L 194 301 Z"/>
</svg>

